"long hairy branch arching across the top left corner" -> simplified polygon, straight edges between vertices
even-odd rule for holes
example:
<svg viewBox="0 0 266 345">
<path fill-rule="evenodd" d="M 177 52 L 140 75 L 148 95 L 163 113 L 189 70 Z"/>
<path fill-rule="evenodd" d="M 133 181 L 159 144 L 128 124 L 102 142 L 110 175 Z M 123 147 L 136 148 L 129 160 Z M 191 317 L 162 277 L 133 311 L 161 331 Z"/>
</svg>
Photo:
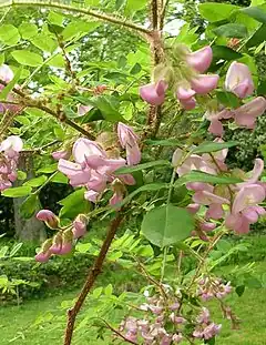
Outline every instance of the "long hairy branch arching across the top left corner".
<svg viewBox="0 0 266 345">
<path fill-rule="evenodd" d="M 37 7 L 41 7 L 41 8 L 52 8 L 52 9 L 59 9 L 59 10 L 65 10 L 65 11 L 73 12 L 73 13 L 94 17 L 99 20 L 106 21 L 106 22 L 110 22 L 110 23 L 113 23 L 116 26 L 121 26 L 121 27 L 134 30 L 134 31 L 136 31 L 141 34 L 144 34 L 144 35 L 151 33 L 151 31 L 149 29 L 145 29 L 141 26 L 137 26 L 137 24 L 129 21 L 125 18 L 113 17 L 113 16 L 110 16 L 106 13 L 102 13 L 100 11 L 86 9 L 85 7 L 84 8 L 82 8 L 82 7 L 78 8 L 78 7 L 73 7 L 70 4 L 63 4 L 63 3 L 60 3 L 60 2 L 53 1 L 53 0 L 50 0 L 50 1 L 45 1 L 45 0 L 32 0 L 32 1 L 29 1 L 29 0 L 9 0 L 9 1 L 4 1 L 3 3 L 0 3 L 0 9 L 9 8 L 9 7 L 23 7 L 23 6 L 25 6 L 25 7 L 37 6 Z"/>
</svg>

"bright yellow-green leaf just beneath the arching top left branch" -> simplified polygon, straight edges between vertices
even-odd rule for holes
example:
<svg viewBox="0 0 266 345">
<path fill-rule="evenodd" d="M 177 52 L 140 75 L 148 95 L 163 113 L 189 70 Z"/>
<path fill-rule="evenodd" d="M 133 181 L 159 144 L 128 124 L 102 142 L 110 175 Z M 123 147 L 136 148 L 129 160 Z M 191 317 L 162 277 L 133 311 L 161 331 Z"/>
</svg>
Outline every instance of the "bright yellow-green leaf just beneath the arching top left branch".
<svg viewBox="0 0 266 345">
<path fill-rule="evenodd" d="M 63 30 L 62 37 L 64 41 L 70 40 L 78 40 L 82 38 L 83 35 L 88 34 L 92 30 L 94 30 L 96 27 L 99 27 L 100 23 L 98 21 L 81 21 L 75 20 L 72 23 L 68 24 L 68 27 Z"/>
</svg>

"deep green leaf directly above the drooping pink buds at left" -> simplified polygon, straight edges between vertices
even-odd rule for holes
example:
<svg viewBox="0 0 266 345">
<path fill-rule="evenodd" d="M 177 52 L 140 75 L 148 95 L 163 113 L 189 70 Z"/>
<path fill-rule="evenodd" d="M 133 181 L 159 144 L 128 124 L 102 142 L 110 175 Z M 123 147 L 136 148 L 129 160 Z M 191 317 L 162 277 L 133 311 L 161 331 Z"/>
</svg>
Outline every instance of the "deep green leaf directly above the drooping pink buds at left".
<svg viewBox="0 0 266 345">
<path fill-rule="evenodd" d="M 89 201 L 84 199 L 85 189 L 74 191 L 58 203 L 63 207 L 60 210 L 59 216 L 63 219 L 74 219 L 80 213 L 88 213 L 91 209 Z"/>
</svg>

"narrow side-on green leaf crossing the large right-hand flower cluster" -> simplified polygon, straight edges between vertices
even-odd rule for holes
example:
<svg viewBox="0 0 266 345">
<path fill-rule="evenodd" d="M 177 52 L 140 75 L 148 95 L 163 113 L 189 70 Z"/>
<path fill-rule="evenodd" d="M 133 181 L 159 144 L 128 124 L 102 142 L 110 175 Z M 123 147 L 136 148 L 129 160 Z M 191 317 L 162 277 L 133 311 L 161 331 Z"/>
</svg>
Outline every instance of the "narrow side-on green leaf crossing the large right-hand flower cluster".
<svg viewBox="0 0 266 345">
<path fill-rule="evenodd" d="M 213 184 L 235 184 L 241 183 L 243 180 L 226 175 L 212 175 L 202 171 L 191 171 L 190 173 L 181 176 L 175 182 L 175 187 L 180 187 L 183 184 L 188 182 L 204 182 L 204 183 L 213 183 Z"/>
</svg>

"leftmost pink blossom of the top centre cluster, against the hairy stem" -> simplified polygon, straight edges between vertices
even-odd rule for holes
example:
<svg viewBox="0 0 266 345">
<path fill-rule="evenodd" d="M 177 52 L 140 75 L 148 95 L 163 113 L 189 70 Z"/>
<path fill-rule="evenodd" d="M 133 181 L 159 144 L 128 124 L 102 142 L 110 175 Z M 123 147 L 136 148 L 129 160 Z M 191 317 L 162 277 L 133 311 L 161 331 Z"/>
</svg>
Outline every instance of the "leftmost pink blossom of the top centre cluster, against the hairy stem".
<svg viewBox="0 0 266 345">
<path fill-rule="evenodd" d="M 164 80 L 146 84 L 140 88 L 141 98 L 152 105 L 161 105 L 164 102 L 165 91 L 168 85 Z"/>
</svg>

